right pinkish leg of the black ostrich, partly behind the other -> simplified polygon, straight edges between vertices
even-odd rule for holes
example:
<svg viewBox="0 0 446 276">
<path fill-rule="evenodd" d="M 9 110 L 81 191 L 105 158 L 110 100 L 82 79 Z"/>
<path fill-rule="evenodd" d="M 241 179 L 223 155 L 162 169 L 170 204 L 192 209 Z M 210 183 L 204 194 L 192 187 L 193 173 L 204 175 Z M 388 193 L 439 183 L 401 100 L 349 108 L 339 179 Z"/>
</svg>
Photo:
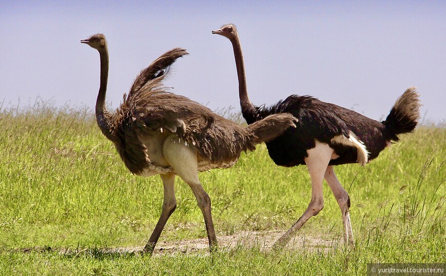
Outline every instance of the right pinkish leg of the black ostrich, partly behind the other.
<svg viewBox="0 0 446 276">
<path fill-rule="evenodd" d="M 324 176 L 328 186 L 332 190 L 342 214 L 342 224 L 344 225 L 344 243 L 351 246 L 355 245 L 353 239 L 352 223 L 350 222 L 350 196 L 334 173 L 333 166 L 328 166 Z"/>
</svg>

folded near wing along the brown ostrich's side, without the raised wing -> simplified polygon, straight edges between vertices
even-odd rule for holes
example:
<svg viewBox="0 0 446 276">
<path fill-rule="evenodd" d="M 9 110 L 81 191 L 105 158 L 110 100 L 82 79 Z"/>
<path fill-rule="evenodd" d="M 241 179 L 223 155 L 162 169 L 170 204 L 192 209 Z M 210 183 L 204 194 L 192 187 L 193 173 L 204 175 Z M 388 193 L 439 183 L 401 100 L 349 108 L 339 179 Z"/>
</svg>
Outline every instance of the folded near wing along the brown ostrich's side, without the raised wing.
<svg viewBox="0 0 446 276">
<path fill-rule="evenodd" d="M 242 151 L 255 149 L 244 127 L 172 93 L 152 93 L 150 100 L 136 108 L 133 116 L 141 130 L 172 132 L 212 162 L 231 162 Z"/>
</svg>

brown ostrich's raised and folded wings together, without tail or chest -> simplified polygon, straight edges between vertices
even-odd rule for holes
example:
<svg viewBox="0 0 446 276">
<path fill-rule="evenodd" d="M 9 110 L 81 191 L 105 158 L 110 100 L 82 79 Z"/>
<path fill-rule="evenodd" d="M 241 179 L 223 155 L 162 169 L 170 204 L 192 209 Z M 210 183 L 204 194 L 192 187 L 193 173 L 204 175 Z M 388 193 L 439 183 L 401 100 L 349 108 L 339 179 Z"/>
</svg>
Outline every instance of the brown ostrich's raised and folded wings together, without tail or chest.
<svg viewBox="0 0 446 276">
<path fill-rule="evenodd" d="M 167 67 L 186 54 L 184 49 L 172 49 L 141 71 L 118 110 L 122 125 L 147 133 L 174 133 L 210 160 L 232 161 L 241 151 L 253 150 L 255 146 L 248 141 L 250 136 L 245 128 L 186 97 L 166 91 L 163 80 Z"/>
</svg>

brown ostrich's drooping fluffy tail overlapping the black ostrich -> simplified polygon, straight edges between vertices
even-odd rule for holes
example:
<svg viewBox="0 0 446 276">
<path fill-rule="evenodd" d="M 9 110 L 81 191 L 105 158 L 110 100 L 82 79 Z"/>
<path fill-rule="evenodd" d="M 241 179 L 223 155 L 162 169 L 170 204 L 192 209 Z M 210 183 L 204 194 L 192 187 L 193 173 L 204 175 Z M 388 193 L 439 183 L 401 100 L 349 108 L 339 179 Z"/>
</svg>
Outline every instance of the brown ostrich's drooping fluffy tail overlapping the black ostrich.
<svg viewBox="0 0 446 276">
<path fill-rule="evenodd" d="M 297 118 L 292 114 L 278 113 L 257 121 L 249 125 L 246 129 L 252 133 L 250 142 L 260 144 L 275 139 L 289 127 L 296 127 L 296 122 Z"/>
</svg>

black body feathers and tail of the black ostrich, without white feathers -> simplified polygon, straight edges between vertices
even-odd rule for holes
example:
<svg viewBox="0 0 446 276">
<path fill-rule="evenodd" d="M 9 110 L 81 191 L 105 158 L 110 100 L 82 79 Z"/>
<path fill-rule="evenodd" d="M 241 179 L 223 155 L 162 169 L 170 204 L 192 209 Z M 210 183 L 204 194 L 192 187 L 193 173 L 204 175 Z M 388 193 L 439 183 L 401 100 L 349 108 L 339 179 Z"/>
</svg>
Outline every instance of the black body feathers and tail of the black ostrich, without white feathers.
<svg viewBox="0 0 446 276">
<path fill-rule="evenodd" d="M 404 103 L 398 104 L 401 101 Z M 409 101 L 412 101 L 413 105 L 407 105 Z M 391 140 L 398 141 L 397 134 L 414 130 L 418 109 L 418 94 L 415 88 L 409 88 L 383 122 L 311 96 L 297 95 L 291 95 L 271 107 L 242 107 L 242 114 L 248 124 L 270 114 L 282 112 L 292 113 L 298 119 L 296 128 L 290 128 L 283 135 L 266 143 L 275 164 L 291 167 L 305 165 L 307 150 L 315 147 L 316 140 L 329 144 L 339 156 L 331 160 L 329 165 L 357 163 L 356 148 L 331 141 L 338 135 L 350 137 L 350 132 L 366 146 L 370 161 L 376 158 Z"/>
</svg>

